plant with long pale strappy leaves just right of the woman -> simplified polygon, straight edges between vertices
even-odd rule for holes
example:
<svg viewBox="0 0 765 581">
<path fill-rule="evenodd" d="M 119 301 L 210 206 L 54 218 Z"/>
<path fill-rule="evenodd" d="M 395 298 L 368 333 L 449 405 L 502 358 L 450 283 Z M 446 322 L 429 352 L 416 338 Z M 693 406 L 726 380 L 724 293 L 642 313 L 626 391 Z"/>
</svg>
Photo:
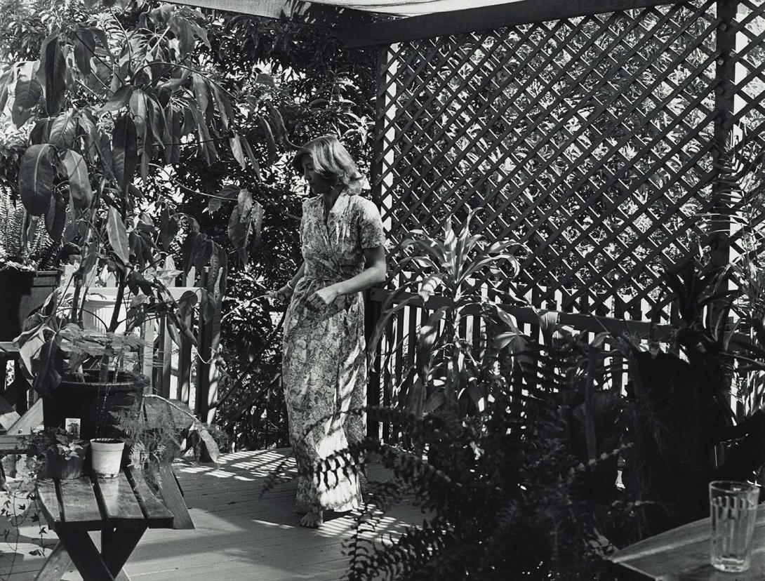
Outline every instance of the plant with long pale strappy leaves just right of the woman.
<svg viewBox="0 0 765 581">
<path fill-rule="evenodd" d="M 446 222 L 443 238 L 415 230 L 399 246 L 403 258 L 391 280 L 397 276 L 406 279 L 412 265 L 423 275 L 405 280 L 386 297 L 369 352 L 375 352 L 392 316 L 409 304 L 431 300 L 435 310 L 416 331 L 415 364 L 405 372 L 398 389 L 399 404 L 415 415 L 438 409 L 464 414 L 483 404 L 486 397 L 480 381 L 487 369 L 481 368 L 470 342 L 461 336 L 461 323 L 470 314 L 497 320 L 497 311 L 482 297 L 477 278 L 489 270 L 498 273 L 501 267 L 506 267 L 501 269 L 503 276 L 514 277 L 519 263 L 512 253 L 516 242 L 490 244 L 470 232 L 477 211 L 471 210 L 457 231 L 451 221 Z M 389 350 L 393 347 L 389 342 Z"/>
</svg>

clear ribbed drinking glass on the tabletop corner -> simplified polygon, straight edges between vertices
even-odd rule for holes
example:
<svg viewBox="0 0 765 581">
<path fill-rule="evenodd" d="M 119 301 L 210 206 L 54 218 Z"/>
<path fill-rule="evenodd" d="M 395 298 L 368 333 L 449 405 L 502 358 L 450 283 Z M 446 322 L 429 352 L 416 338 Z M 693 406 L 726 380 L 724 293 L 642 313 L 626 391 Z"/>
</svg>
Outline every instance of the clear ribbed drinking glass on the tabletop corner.
<svg viewBox="0 0 765 581">
<path fill-rule="evenodd" d="M 747 482 L 717 480 L 709 483 L 712 566 L 741 573 L 749 569 L 754 522 L 760 487 Z"/>
</svg>

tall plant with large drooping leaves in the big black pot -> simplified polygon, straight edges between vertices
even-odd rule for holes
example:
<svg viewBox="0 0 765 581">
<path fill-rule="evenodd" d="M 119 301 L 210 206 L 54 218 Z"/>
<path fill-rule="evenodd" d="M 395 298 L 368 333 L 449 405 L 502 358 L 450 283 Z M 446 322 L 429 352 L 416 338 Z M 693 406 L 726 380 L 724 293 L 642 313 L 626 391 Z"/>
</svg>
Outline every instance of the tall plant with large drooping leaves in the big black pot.
<svg viewBox="0 0 765 581">
<path fill-rule="evenodd" d="M 51 239 L 80 251 L 71 296 L 51 300 L 19 338 L 25 365 L 34 360 L 43 377 L 38 388 L 57 385 L 62 332 L 83 326 L 87 290 L 105 269 L 117 281 L 109 333 L 123 323 L 130 333 L 166 316 L 176 342 L 181 333 L 193 340 L 184 315 L 198 307 L 208 320 L 220 307 L 226 252 L 193 216 L 174 211 L 174 168 L 194 154 L 213 164 L 225 157 L 221 143 L 243 167 L 257 167 L 252 147 L 236 132 L 233 94 L 195 57 L 200 44 L 209 45 L 202 15 L 143 2 L 121 14 L 114 8 L 88 0 L 89 21 L 54 31 L 39 60 L 0 74 L 0 111 L 8 105 L 14 124 L 29 134 L 18 168 L 21 202 L 44 219 Z M 170 195 L 148 200 L 142 188 L 161 175 Z M 247 190 L 229 187 L 219 197 L 236 200 L 229 236 L 246 260 L 259 239 L 262 209 Z M 167 284 L 181 273 L 173 258 L 179 253 L 183 271 L 210 272 L 199 294 L 174 300 Z"/>
</svg>

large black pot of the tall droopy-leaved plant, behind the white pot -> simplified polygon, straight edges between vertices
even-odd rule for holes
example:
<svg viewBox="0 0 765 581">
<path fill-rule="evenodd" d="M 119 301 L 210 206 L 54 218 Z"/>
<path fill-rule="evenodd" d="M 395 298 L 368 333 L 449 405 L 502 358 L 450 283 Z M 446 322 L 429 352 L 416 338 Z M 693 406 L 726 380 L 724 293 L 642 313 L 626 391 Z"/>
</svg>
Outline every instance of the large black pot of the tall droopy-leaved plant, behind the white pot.
<svg viewBox="0 0 765 581">
<path fill-rule="evenodd" d="M 122 438 L 114 413 L 129 409 L 143 399 L 148 379 L 120 373 L 109 381 L 98 381 L 98 372 L 85 372 L 86 381 L 63 378 L 43 398 L 45 427 L 65 427 L 67 418 L 80 419 L 80 438 Z"/>
</svg>

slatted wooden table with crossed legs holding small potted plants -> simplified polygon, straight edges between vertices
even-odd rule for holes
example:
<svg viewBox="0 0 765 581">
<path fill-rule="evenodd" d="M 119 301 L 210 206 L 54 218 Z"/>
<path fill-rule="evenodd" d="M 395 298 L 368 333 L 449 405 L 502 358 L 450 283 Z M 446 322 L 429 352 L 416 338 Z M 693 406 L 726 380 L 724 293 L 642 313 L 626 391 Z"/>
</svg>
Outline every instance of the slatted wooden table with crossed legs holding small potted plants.
<svg viewBox="0 0 765 581">
<path fill-rule="evenodd" d="M 37 498 L 59 537 L 38 581 L 59 581 L 71 563 L 83 581 L 129 581 L 122 566 L 146 529 L 174 527 L 168 502 L 155 495 L 140 470 L 125 469 L 114 479 L 41 479 Z M 100 552 L 88 531 L 101 531 Z"/>
</svg>

